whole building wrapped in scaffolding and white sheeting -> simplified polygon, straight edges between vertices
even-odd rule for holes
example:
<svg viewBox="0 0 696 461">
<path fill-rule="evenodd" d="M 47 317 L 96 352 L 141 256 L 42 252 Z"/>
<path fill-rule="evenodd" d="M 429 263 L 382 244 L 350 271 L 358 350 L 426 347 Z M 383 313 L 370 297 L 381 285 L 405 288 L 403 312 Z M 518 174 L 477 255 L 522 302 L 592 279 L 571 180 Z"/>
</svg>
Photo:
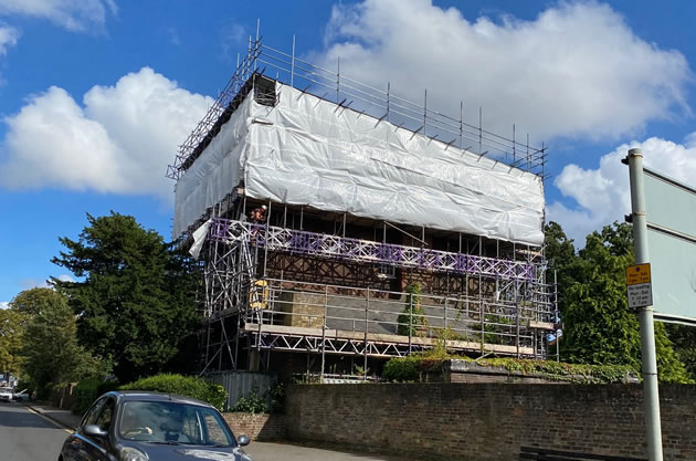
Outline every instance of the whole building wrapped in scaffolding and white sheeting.
<svg viewBox="0 0 696 461">
<path fill-rule="evenodd" d="M 250 39 L 168 170 L 204 265 L 201 370 L 546 357 L 545 157 Z"/>
</svg>

